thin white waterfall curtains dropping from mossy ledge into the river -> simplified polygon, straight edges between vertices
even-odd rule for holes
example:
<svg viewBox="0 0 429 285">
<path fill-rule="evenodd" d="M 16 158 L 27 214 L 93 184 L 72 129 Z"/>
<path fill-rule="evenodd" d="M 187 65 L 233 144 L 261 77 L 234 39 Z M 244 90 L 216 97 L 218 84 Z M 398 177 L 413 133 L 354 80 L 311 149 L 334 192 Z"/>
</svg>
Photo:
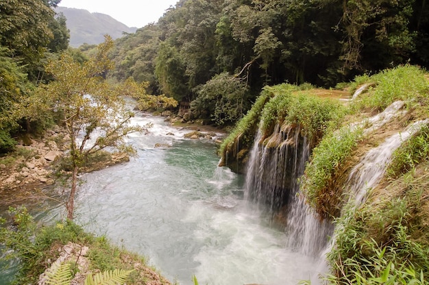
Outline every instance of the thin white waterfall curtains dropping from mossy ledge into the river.
<svg viewBox="0 0 429 285">
<path fill-rule="evenodd" d="M 261 122 L 262 125 L 262 122 Z M 298 196 L 298 179 L 304 174 L 310 146 L 299 127 L 276 125 L 269 138 L 262 140 L 259 129 L 249 154 L 245 197 L 286 216 L 286 247 L 310 256 L 325 249 L 332 234 L 330 221 L 319 221 Z"/>
</svg>

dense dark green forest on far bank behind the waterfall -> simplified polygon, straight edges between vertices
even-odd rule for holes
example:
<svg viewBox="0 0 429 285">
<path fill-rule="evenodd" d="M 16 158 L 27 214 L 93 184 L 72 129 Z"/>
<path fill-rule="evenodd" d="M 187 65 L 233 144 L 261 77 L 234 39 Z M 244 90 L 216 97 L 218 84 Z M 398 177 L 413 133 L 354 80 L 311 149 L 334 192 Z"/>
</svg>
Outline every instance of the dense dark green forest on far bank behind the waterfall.
<svg viewBox="0 0 429 285">
<path fill-rule="evenodd" d="M 421 0 L 182 0 L 117 40 L 113 75 L 230 124 L 265 85 L 332 87 L 406 62 L 428 66 L 428 21 Z"/>
</svg>

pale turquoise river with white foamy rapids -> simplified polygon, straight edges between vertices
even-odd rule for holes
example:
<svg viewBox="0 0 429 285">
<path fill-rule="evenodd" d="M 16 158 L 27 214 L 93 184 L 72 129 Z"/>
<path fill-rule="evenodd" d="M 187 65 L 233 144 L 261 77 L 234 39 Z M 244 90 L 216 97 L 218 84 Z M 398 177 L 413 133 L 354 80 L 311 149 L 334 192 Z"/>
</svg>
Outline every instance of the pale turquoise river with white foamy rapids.
<svg viewBox="0 0 429 285">
<path fill-rule="evenodd" d="M 148 134 L 128 138 L 138 149 L 130 162 L 80 178 L 75 221 L 112 243 L 143 254 L 171 282 L 297 284 L 314 278 L 318 258 L 288 249 L 284 231 L 264 210 L 243 199 L 244 177 L 217 166 L 210 139 L 184 138 L 159 116 Z M 156 144 L 164 147 L 156 148 Z M 64 215 L 51 210 L 46 221 Z"/>
</svg>

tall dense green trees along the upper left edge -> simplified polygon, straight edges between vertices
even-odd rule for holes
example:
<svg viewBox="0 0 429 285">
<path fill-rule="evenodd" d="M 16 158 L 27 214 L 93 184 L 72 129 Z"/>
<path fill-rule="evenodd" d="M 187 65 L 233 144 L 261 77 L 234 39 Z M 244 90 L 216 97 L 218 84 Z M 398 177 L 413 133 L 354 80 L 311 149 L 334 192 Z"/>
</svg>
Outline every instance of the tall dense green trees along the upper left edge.
<svg viewBox="0 0 429 285">
<path fill-rule="evenodd" d="M 0 2 L 0 153 L 14 148 L 23 131 L 37 132 L 49 124 L 45 114 L 29 120 L 27 99 L 35 86 L 49 80 L 48 58 L 69 46 L 66 18 L 53 7 L 60 0 Z"/>
</svg>

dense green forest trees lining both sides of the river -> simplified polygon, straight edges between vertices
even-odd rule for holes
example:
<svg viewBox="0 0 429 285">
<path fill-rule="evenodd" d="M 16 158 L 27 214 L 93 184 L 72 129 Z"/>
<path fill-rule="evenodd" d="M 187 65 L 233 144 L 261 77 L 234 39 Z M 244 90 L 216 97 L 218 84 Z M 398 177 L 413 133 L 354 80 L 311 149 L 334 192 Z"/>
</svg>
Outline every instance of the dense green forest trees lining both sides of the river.
<svg viewBox="0 0 429 285">
<path fill-rule="evenodd" d="M 1 153 L 55 121 L 25 105 L 52 79 L 49 59 L 69 53 L 83 63 L 93 51 L 68 47 L 66 18 L 52 10 L 58 3 L 0 3 Z M 266 85 L 334 88 L 399 64 L 425 68 L 428 21 L 424 0 L 181 0 L 158 23 L 116 40 L 114 69 L 103 76 L 172 97 L 188 120 L 233 125 Z"/>
</svg>

